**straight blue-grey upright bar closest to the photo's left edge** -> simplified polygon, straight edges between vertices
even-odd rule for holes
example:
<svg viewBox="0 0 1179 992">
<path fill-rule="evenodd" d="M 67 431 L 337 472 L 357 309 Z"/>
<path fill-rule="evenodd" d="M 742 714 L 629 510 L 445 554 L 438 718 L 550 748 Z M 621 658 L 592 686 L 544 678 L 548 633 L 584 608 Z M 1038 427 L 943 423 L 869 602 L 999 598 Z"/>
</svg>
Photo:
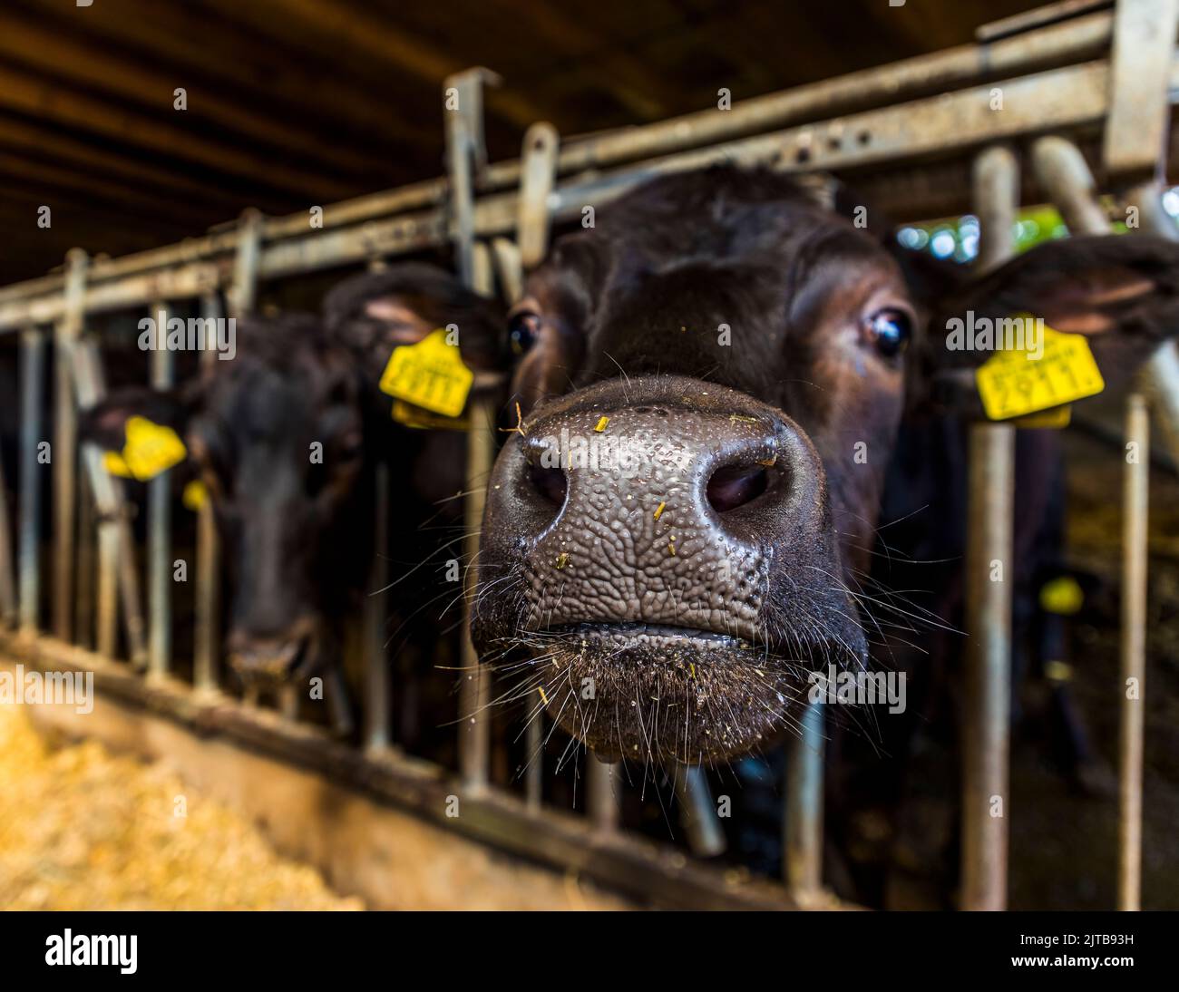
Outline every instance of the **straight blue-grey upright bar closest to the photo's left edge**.
<svg viewBox="0 0 1179 992">
<path fill-rule="evenodd" d="M 41 597 L 41 472 L 38 445 L 45 439 L 45 335 L 34 328 L 20 332 L 20 628 L 38 629 Z"/>
</svg>

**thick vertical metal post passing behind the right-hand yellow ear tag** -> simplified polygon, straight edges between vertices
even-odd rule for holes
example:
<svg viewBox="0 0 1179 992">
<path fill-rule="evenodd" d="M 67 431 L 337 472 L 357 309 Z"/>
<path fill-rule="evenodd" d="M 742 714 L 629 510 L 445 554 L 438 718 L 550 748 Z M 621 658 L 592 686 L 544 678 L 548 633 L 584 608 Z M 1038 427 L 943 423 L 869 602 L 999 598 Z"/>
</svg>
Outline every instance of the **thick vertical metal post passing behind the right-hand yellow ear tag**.
<svg viewBox="0 0 1179 992">
<path fill-rule="evenodd" d="M 1019 165 L 1006 147 L 981 152 L 974 199 L 982 240 L 980 269 L 1015 250 Z M 979 423 L 969 429 L 963 679 L 962 891 L 963 910 L 1007 905 L 1007 816 L 1012 680 L 1015 429 Z"/>
</svg>

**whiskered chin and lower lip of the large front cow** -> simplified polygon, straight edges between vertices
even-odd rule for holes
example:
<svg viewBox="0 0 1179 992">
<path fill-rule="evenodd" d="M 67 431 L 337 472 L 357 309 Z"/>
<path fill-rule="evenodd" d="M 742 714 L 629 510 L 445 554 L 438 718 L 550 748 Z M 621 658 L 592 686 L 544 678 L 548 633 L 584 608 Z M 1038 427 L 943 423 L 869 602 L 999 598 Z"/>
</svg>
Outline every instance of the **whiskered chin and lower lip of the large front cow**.
<svg viewBox="0 0 1179 992">
<path fill-rule="evenodd" d="M 531 693 L 600 760 L 713 765 L 798 726 L 809 661 L 737 637 L 646 623 L 539 631 Z"/>
</svg>

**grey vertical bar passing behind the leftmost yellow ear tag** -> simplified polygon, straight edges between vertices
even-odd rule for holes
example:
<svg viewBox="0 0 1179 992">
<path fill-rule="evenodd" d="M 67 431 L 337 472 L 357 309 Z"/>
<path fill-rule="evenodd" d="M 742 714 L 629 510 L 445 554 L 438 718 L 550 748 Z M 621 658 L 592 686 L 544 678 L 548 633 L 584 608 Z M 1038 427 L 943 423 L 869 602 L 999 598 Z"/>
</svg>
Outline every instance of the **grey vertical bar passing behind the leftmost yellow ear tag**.
<svg viewBox="0 0 1179 992">
<path fill-rule="evenodd" d="M 154 303 L 151 316 L 163 344 L 167 335 L 167 307 Z M 173 353 L 167 348 L 151 352 L 151 386 L 165 391 L 174 377 Z M 172 470 L 147 483 L 147 674 L 167 675 L 172 663 Z"/>
</svg>

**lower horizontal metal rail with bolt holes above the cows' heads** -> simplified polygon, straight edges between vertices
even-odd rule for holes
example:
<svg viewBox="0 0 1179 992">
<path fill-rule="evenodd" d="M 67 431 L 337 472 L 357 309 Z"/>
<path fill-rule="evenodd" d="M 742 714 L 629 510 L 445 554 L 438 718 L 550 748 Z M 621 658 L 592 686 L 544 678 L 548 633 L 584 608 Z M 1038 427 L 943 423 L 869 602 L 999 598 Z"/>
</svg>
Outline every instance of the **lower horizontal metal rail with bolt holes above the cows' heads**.
<svg viewBox="0 0 1179 992">
<path fill-rule="evenodd" d="M 1016 40 L 1022 42 L 1028 38 L 1033 35 Z M 1177 84 L 1179 72 L 1172 62 L 1171 85 L 1175 87 Z M 956 154 L 996 138 L 1091 127 L 1100 124 L 1108 110 L 1108 87 L 1109 68 L 1106 62 L 1072 65 L 1006 80 L 1006 108 L 1002 113 L 989 110 L 990 87 L 987 86 L 830 118 L 821 124 L 806 124 L 770 134 L 735 138 L 730 144 L 635 163 L 612 174 L 600 173 L 600 165 L 617 164 L 614 159 L 608 159 L 593 166 L 587 174 L 554 190 L 553 217 L 556 220 L 572 217 L 587 203 L 600 206 L 635 183 L 660 172 L 697 168 L 713 161 L 769 164 L 789 172 L 814 172 Z M 1179 101 L 1179 88 L 1173 88 L 1172 93 L 1173 100 Z M 724 118 L 733 111 L 717 113 Z M 567 144 L 565 151 L 571 146 Z M 676 147 L 677 144 L 670 141 L 660 145 L 659 151 L 670 152 Z M 560 163 L 564 160 L 562 151 L 559 171 L 562 171 Z M 519 164 L 513 165 L 512 174 L 519 177 Z M 582 167 L 591 170 L 586 164 Z M 914 165 L 914 168 L 918 167 Z M 499 179 L 493 181 L 494 166 L 487 174 L 488 180 L 481 186 L 487 192 L 480 196 L 474 210 L 476 237 L 511 231 L 518 221 L 516 194 L 490 192 L 501 184 Z M 305 224 L 305 218 L 303 221 Z M 447 226 L 439 210 L 373 220 L 362 227 L 315 231 L 268 244 L 259 259 L 259 275 L 276 278 L 363 262 L 374 252 L 393 256 L 416 251 L 443 244 L 447 237 Z M 177 270 L 111 279 L 88 293 L 87 309 L 110 310 L 144 305 L 153 298 L 197 296 L 209 282 L 209 272 L 213 272 L 216 278 L 217 265 L 205 260 Z M 53 296 L 0 298 L 0 331 L 28 323 L 52 322 L 59 316 L 60 307 L 60 299 Z"/>
</svg>

